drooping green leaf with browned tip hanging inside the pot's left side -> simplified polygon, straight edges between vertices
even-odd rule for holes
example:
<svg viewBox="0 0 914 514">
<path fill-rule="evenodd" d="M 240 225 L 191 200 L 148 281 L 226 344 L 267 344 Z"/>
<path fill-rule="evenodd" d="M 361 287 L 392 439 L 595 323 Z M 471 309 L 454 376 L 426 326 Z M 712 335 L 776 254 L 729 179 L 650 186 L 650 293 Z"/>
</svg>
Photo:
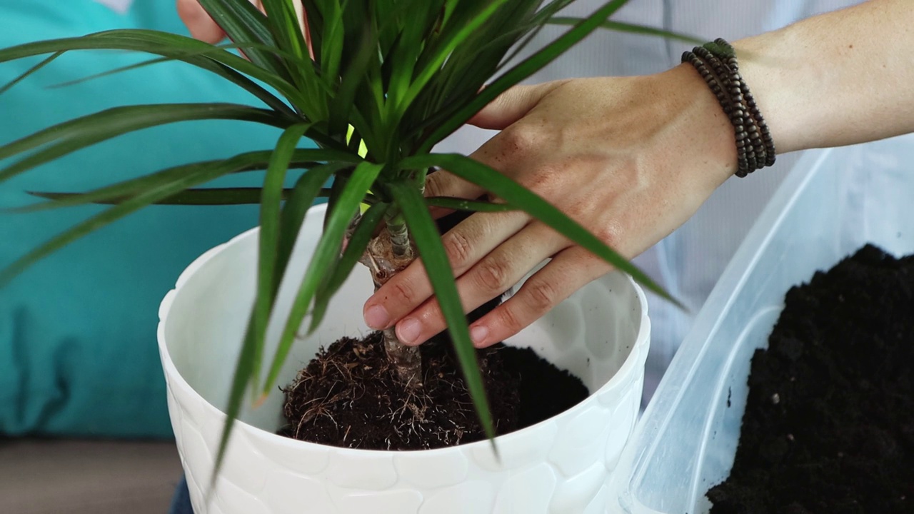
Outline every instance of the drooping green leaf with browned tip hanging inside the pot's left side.
<svg viewBox="0 0 914 514">
<path fill-rule="evenodd" d="M 295 334 L 308 312 L 308 307 L 314 299 L 314 293 L 317 291 L 317 287 L 324 278 L 330 264 L 339 258 L 345 229 L 356 214 L 358 204 L 365 197 L 365 192 L 371 187 L 383 168 L 384 165 L 368 162 L 356 166 L 356 170 L 349 179 L 345 190 L 340 195 L 336 209 L 328 214 L 330 222 L 327 223 L 326 230 L 324 230 L 324 234 L 322 234 L 320 241 L 317 243 L 314 256 L 308 264 L 302 284 L 295 295 L 292 310 L 282 330 L 282 337 L 273 357 L 270 373 L 267 375 L 267 380 L 263 387 L 264 393 L 270 391 L 276 379 L 279 378 L 282 364 L 289 356 L 289 350 L 292 349 Z"/>
</svg>

